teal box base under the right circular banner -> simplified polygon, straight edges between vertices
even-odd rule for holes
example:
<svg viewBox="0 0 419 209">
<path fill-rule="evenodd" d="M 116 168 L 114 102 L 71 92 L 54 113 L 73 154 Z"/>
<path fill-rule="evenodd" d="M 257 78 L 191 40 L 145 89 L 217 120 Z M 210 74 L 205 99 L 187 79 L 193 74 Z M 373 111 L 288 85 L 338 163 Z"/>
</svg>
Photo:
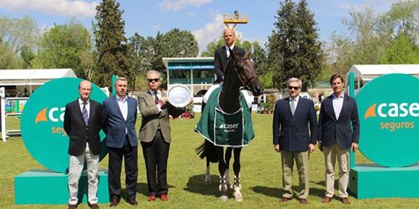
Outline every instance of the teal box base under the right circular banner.
<svg viewBox="0 0 419 209">
<path fill-rule="evenodd" d="M 402 168 L 357 165 L 350 171 L 349 191 L 358 199 L 418 198 L 418 176 L 419 164 Z"/>
</svg>

